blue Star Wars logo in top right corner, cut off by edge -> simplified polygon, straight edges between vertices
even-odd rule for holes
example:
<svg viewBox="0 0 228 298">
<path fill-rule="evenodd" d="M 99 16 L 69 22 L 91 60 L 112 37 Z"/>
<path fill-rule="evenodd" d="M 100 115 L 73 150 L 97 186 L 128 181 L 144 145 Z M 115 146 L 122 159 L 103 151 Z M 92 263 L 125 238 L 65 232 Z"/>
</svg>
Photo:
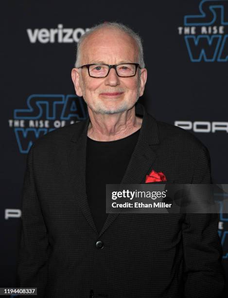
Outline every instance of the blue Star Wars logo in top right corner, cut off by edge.
<svg viewBox="0 0 228 298">
<path fill-rule="evenodd" d="M 192 62 L 228 61 L 228 0 L 202 0 L 198 15 L 184 17 L 178 27 Z"/>
</svg>

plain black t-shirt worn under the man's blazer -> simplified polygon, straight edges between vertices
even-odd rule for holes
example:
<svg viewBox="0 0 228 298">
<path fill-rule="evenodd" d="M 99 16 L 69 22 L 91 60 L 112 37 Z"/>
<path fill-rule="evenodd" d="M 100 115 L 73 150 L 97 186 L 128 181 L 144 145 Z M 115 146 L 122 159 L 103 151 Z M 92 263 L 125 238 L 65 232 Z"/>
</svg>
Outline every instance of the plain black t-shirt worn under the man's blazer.
<svg viewBox="0 0 228 298">
<path fill-rule="evenodd" d="M 140 129 L 123 139 L 105 142 L 87 137 L 86 191 L 98 233 L 108 216 L 105 184 L 121 183 L 139 134 Z"/>
</svg>

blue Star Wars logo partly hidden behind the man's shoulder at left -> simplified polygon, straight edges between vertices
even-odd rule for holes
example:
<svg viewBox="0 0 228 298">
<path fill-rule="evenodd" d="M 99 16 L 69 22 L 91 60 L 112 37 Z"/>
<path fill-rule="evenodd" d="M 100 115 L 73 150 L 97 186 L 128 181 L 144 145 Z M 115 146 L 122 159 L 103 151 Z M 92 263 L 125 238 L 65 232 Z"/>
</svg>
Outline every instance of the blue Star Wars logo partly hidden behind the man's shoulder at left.
<svg viewBox="0 0 228 298">
<path fill-rule="evenodd" d="M 76 95 L 33 94 L 25 109 L 14 110 L 9 126 L 14 129 L 20 153 L 28 153 L 35 139 L 59 127 L 87 118 L 83 98 Z"/>
</svg>

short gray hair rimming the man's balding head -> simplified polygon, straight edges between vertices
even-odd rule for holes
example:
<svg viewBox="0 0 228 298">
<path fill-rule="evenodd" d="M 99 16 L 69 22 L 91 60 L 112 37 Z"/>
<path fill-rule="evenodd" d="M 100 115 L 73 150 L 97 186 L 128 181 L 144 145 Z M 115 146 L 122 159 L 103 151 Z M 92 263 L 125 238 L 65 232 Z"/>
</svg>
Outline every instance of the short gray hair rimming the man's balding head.
<svg viewBox="0 0 228 298">
<path fill-rule="evenodd" d="M 128 34 L 130 37 L 132 37 L 135 41 L 136 44 L 138 46 L 139 49 L 139 64 L 141 68 L 145 67 L 145 63 L 143 60 L 143 48 L 142 48 L 142 39 L 141 37 L 135 33 L 131 28 L 127 27 L 126 25 L 123 25 L 122 23 L 117 23 L 117 22 L 105 22 L 105 23 L 101 23 L 98 25 L 95 25 L 93 27 L 91 27 L 86 33 L 84 33 L 78 41 L 78 45 L 77 45 L 77 55 L 76 55 L 76 62 L 75 62 L 75 67 L 79 67 L 80 64 L 80 57 L 81 57 L 81 48 L 82 48 L 82 44 L 83 41 L 90 35 L 92 34 L 94 31 L 97 31 L 101 28 L 113 28 L 119 31 L 122 31 L 126 34 Z"/>
</svg>

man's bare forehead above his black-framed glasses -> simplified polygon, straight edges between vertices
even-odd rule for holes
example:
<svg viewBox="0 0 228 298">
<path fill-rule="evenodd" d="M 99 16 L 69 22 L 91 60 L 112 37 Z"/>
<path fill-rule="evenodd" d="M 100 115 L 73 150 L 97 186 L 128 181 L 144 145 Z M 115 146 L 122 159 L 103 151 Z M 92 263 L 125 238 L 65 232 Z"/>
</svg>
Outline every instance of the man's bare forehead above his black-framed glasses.
<svg viewBox="0 0 228 298">
<path fill-rule="evenodd" d="M 82 64 L 138 62 L 136 41 L 116 29 L 100 29 L 89 35 L 81 48 Z"/>
</svg>

